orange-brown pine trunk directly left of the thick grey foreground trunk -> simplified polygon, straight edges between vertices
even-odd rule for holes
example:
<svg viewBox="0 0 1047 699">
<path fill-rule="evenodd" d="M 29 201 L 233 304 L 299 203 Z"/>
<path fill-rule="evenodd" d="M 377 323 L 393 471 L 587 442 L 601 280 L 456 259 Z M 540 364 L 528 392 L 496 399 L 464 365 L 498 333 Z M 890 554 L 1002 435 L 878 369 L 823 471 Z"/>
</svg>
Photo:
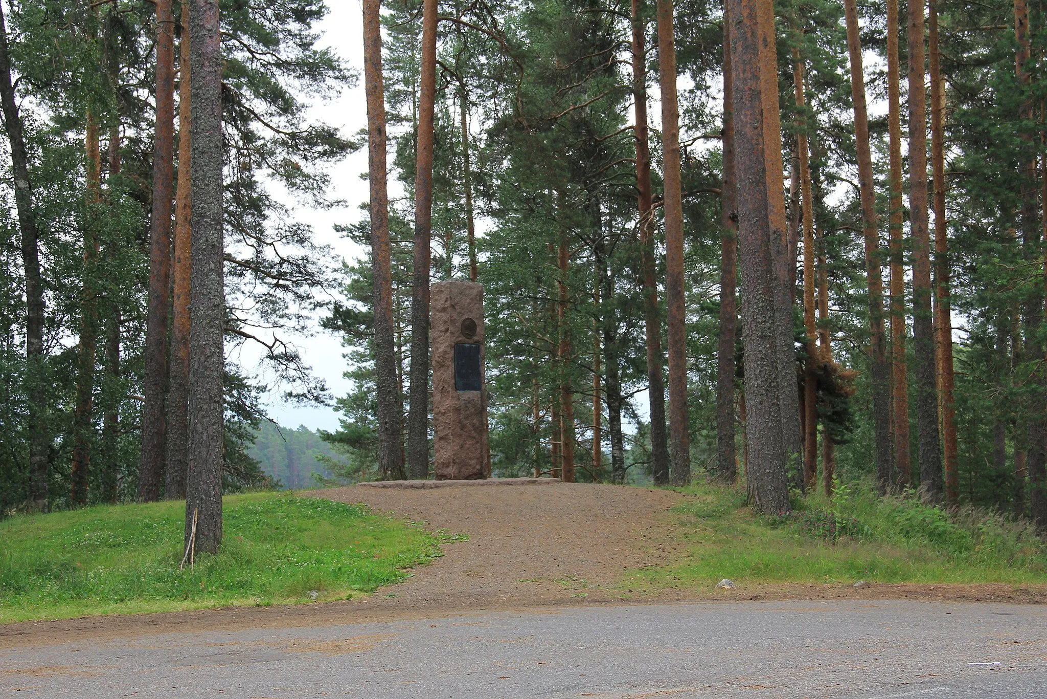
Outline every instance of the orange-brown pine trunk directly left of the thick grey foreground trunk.
<svg viewBox="0 0 1047 699">
<path fill-rule="evenodd" d="M 192 112 L 190 90 L 190 3 L 182 2 L 181 41 L 179 45 L 178 84 L 178 185 L 175 192 L 175 244 L 172 260 L 171 367 L 168 389 L 168 463 L 163 497 L 185 498 L 185 473 L 188 460 L 188 381 L 190 381 L 190 284 L 192 277 L 193 214 L 191 175 L 193 169 Z"/>
</svg>

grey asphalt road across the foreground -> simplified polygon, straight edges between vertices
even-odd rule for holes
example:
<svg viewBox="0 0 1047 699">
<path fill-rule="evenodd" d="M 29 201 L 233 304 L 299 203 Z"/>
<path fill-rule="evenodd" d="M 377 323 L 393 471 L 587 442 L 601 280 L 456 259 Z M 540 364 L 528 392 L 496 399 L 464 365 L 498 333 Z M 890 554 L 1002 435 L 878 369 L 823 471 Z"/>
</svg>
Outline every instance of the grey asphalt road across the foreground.
<svg viewBox="0 0 1047 699">
<path fill-rule="evenodd" d="M 1047 697 L 1047 607 L 595 606 L 0 651 L 3 697 Z"/>
</svg>

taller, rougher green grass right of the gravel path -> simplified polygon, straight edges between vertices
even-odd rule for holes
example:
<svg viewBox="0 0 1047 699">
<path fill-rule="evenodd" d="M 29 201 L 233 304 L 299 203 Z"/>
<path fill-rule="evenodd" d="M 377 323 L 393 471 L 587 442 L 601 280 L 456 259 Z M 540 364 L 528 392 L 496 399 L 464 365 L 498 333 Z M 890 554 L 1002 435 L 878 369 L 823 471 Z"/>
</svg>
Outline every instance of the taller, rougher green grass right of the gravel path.
<svg viewBox="0 0 1047 699">
<path fill-rule="evenodd" d="M 683 560 L 634 571 L 626 587 L 711 588 L 735 583 L 1047 583 L 1047 546 L 1024 524 L 982 510 L 955 517 L 915 496 L 879 498 L 867 483 L 828 501 L 799 498 L 786 518 L 764 518 L 744 493 L 686 488 L 676 507 L 689 542 Z"/>
</svg>

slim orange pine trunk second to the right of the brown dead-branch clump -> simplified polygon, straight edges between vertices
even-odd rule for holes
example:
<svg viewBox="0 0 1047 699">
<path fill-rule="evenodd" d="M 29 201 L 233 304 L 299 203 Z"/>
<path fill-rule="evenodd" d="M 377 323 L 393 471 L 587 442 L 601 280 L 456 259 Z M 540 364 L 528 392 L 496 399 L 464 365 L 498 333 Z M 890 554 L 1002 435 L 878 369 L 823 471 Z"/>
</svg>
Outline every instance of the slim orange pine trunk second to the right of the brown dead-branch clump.
<svg viewBox="0 0 1047 699">
<path fill-rule="evenodd" d="M 909 378 L 906 364 L 905 234 L 901 204 L 901 96 L 898 56 L 898 2 L 887 0 L 887 103 L 890 166 L 891 259 L 891 429 L 894 478 L 899 488 L 912 484 L 909 451 Z"/>
</svg>

